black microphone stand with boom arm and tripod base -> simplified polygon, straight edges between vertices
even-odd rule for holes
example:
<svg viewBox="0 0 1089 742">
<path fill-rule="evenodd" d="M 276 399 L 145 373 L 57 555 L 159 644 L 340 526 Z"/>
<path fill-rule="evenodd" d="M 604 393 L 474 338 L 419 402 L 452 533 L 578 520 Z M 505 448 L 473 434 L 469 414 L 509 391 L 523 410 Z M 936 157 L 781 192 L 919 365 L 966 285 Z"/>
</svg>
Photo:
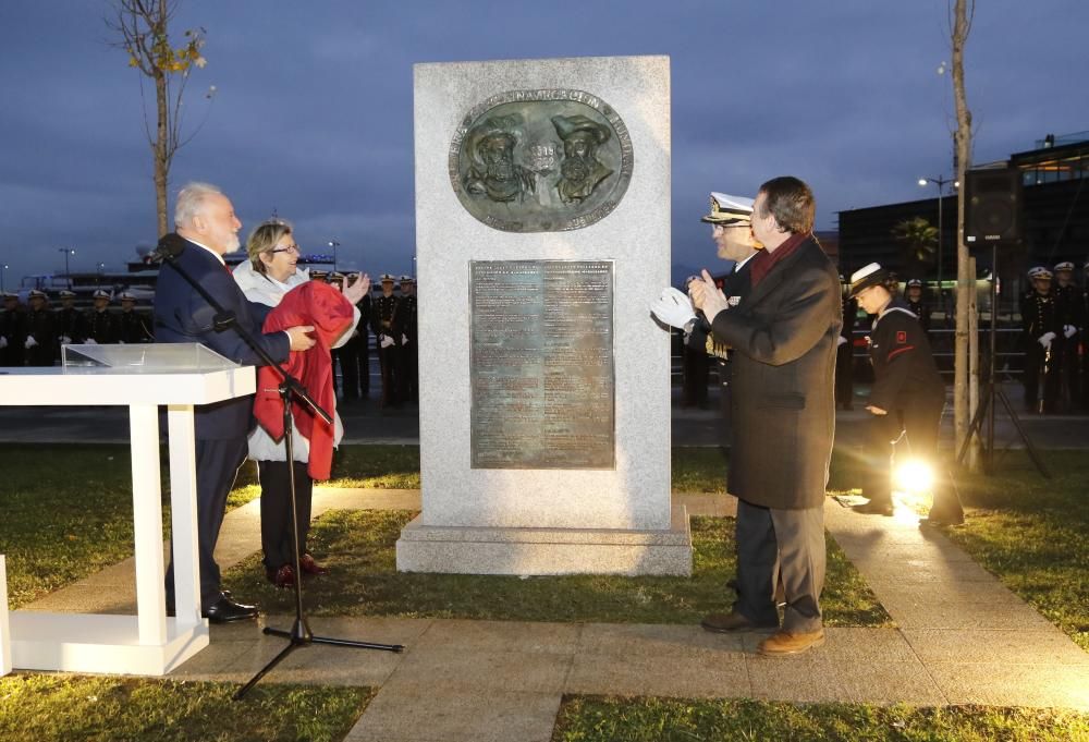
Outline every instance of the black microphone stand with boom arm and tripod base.
<svg viewBox="0 0 1089 742">
<path fill-rule="evenodd" d="M 306 647 L 310 644 L 329 644 L 331 646 L 342 646 L 342 647 L 355 647 L 358 649 L 381 649 L 384 652 L 404 652 L 403 644 L 376 644 L 374 642 L 355 642 L 351 640 L 343 638 L 332 638 L 329 636 L 315 636 L 310 631 L 309 624 L 306 622 L 306 617 L 303 612 L 303 571 L 299 569 L 299 552 L 298 552 L 298 511 L 296 508 L 296 496 L 295 496 L 295 460 L 294 460 L 294 449 L 292 437 L 294 434 L 294 419 L 291 415 L 291 396 L 295 394 L 302 399 L 306 404 L 314 410 L 314 413 L 321 417 L 327 424 L 332 425 L 332 416 L 321 409 L 309 392 L 306 391 L 298 379 L 293 377 L 291 374 L 285 372 L 280 367 L 272 356 L 269 355 L 268 351 L 265 350 L 254 338 L 253 333 L 249 332 L 248 328 L 243 327 L 237 323 L 236 317 L 233 312 L 229 312 L 223 308 L 216 299 L 208 293 L 208 291 L 200 285 L 196 279 L 194 279 L 188 271 L 186 271 L 178 263 L 178 257 L 185 250 L 185 244 L 183 238 L 176 238 L 175 235 L 168 234 L 160 241 L 159 250 L 156 253 L 156 258 L 161 259 L 173 268 L 182 279 L 185 280 L 193 289 L 200 294 L 200 296 L 208 302 L 211 308 L 216 312 L 212 324 L 217 331 L 225 330 L 227 328 L 233 329 L 237 332 L 243 340 L 257 353 L 257 356 L 265 362 L 267 366 L 276 370 L 276 374 L 280 377 L 280 385 L 278 391 L 280 392 L 280 401 L 283 404 L 283 436 L 284 436 L 284 448 L 287 457 L 287 491 L 291 495 L 291 542 L 292 542 L 292 557 L 295 567 L 295 620 L 291 625 L 290 630 L 282 629 L 271 629 L 265 627 L 262 630 L 265 634 L 271 634 L 273 636 L 282 636 L 289 640 L 287 646 L 285 646 L 280 654 L 272 658 L 268 665 L 262 667 L 257 674 L 249 679 L 245 685 L 243 685 L 232 697 L 234 701 L 242 700 L 246 693 L 249 692 L 254 685 L 260 681 L 266 674 L 268 674 L 277 665 L 279 665 L 283 659 L 287 657 L 292 652 L 299 647 Z M 160 258 L 161 255 L 161 258 Z"/>
</svg>

